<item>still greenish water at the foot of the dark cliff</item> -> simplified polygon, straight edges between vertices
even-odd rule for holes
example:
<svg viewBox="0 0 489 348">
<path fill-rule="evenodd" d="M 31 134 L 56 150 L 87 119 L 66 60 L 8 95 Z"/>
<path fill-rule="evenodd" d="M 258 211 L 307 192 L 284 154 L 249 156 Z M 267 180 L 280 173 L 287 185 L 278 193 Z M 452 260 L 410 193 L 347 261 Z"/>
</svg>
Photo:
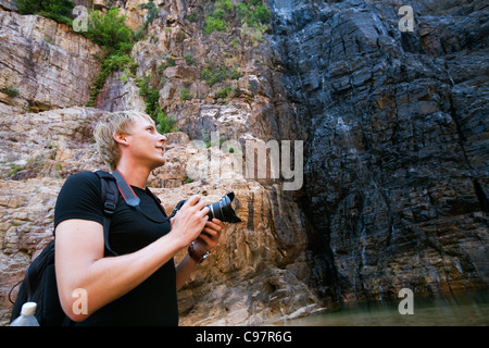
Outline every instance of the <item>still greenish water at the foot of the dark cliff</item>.
<svg viewBox="0 0 489 348">
<path fill-rule="evenodd" d="M 402 299 L 399 300 L 399 302 Z M 442 299 L 414 297 L 414 313 L 400 314 L 399 302 L 341 306 L 336 311 L 283 322 L 297 326 L 488 326 L 489 291 Z"/>
</svg>

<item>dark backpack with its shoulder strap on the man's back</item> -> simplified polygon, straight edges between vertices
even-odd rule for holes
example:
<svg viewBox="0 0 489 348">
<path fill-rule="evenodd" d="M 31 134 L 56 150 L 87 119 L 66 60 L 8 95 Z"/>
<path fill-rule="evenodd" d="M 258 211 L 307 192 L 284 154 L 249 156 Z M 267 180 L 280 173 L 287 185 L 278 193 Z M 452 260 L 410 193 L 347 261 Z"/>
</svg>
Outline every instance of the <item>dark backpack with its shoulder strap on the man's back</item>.
<svg viewBox="0 0 489 348">
<path fill-rule="evenodd" d="M 115 177 L 106 172 L 97 171 L 100 178 L 103 206 L 103 239 L 109 252 L 116 256 L 109 245 L 109 227 L 111 216 L 114 213 L 118 200 L 118 187 Z M 121 183 L 121 185 L 124 185 Z M 127 186 L 127 184 L 125 184 Z M 18 284 L 17 284 L 18 285 Z M 17 286 L 15 285 L 14 288 Z M 57 278 L 54 272 L 54 239 L 41 251 L 41 253 L 25 270 L 25 278 L 22 281 L 17 298 L 14 304 L 10 322 L 21 315 L 22 306 L 25 302 L 36 302 L 36 319 L 41 326 L 70 325 L 70 318 L 61 308 L 58 295 Z"/>
</svg>

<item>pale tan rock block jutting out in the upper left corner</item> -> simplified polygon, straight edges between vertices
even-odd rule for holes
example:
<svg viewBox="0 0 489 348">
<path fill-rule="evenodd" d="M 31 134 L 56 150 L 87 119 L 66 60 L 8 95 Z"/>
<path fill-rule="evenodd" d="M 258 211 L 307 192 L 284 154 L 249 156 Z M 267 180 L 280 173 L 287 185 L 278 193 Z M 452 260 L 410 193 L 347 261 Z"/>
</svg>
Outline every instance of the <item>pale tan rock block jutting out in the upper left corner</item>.
<svg viewBox="0 0 489 348">
<path fill-rule="evenodd" d="M 67 25 L 0 11 L 0 102 L 24 112 L 83 105 L 100 71 L 101 49 Z M 1 110 L 0 110 L 1 112 Z"/>
</svg>

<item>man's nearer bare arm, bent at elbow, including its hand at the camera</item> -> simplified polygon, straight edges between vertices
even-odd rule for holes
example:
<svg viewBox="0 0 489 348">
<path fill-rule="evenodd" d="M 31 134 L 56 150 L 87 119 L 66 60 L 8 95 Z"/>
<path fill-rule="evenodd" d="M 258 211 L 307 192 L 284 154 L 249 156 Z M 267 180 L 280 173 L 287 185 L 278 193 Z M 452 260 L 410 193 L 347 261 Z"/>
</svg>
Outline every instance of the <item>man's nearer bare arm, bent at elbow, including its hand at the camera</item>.
<svg viewBox="0 0 489 348">
<path fill-rule="evenodd" d="M 175 216 L 172 231 L 136 252 L 104 258 L 103 227 L 87 220 L 66 220 L 57 226 L 55 272 L 61 306 L 74 321 L 83 321 L 141 284 L 197 238 L 208 220 L 208 208 L 193 196 Z M 73 291 L 85 289 L 88 313 L 75 314 Z"/>
</svg>

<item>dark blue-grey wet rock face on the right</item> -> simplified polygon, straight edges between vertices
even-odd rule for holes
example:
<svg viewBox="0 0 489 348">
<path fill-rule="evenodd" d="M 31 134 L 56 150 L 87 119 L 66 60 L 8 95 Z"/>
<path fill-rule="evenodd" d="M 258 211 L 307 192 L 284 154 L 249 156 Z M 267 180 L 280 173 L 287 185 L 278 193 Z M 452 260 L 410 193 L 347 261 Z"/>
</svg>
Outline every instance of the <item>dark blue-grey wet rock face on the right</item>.
<svg viewBox="0 0 489 348">
<path fill-rule="evenodd" d="M 308 134 L 303 211 L 330 300 L 489 282 L 489 7 L 271 0 L 274 51 Z"/>
</svg>

